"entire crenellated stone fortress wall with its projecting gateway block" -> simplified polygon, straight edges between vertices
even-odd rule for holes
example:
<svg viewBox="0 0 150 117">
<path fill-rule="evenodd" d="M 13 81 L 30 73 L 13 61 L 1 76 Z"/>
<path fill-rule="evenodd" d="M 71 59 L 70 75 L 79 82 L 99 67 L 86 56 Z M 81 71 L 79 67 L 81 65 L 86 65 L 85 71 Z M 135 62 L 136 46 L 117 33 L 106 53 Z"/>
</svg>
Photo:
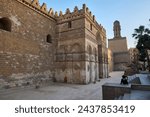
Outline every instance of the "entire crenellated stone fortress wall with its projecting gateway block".
<svg viewBox="0 0 150 117">
<path fill-rule="evenodd" d="M 0 1 L 1 84 L 34 78 L 87 84 L 108 76 L 107 59 L 105 29 L 86 5 L 58 14 L 38 0 Z"/>
</svg>

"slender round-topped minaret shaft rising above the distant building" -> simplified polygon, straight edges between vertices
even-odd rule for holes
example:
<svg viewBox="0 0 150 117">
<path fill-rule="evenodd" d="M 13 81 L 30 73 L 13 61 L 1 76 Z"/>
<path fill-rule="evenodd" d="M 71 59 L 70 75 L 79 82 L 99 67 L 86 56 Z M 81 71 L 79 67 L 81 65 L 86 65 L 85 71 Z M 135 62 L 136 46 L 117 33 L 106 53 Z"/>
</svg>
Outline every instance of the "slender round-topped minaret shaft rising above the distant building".
<svg viewBox="0 0 150 117">
<path fill-rule="evenodd" d="M 114 22 L 114 38 L 118 38 L 121 37 L 121 26 L 120 26 L 120 22 L 119 21 L 115 21 Z"/>
</svg>

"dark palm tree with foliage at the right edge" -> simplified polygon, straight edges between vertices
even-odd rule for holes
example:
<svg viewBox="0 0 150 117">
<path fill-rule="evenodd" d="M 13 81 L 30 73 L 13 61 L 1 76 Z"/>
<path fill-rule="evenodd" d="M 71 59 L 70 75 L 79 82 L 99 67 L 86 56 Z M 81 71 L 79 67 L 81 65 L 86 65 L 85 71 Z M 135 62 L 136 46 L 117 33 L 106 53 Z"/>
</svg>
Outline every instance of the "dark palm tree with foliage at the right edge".
<svg viewBox="0 0 150 117">
<path fill-rule="evenodd" d="M 148 50 L 150 50 L 150 29 L 145 28 L 145 26 L 139 26 L 139 28 L 134 29 L 132 36 L 138 40 L 136 48 L 140 53 L 139 60 L 144 63 L 147 61 L 150 71 L 150 58 L 148 55 Z"/>
</svg>

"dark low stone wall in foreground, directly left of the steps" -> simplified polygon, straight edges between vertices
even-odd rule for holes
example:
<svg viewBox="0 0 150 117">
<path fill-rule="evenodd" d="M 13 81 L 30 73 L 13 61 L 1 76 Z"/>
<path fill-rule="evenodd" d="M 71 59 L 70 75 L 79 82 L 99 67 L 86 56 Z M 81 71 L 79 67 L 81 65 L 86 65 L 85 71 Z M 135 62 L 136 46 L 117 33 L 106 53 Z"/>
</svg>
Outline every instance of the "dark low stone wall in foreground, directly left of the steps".
<svg viewBox="0 0 150 117">
<path fill-rule="evenodd" d="M 131 85 L 120 85 L 106 83 L 102 86 L 103 100 L 114 100 L 115 98 L 131 92 Z"/>
</svg>

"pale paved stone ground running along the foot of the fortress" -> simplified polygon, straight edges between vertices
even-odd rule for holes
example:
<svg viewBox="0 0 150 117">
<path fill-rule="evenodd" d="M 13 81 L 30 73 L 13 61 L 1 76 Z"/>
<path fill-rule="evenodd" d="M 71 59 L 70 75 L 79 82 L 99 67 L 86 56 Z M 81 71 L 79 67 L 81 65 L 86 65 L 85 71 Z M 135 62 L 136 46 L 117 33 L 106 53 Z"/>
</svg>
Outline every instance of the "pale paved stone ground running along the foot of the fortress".
<svg viewBox="0 0 150 117">
<path fill-rule="evenodd" d="M 120 83 L 123 72 L 112 72 L 110 78 L 96 84 L 76 85 L 51 83 L 50 86 L 0 90 L 1 100 L 101 100 L 104 83 Z"/>
</svg>

